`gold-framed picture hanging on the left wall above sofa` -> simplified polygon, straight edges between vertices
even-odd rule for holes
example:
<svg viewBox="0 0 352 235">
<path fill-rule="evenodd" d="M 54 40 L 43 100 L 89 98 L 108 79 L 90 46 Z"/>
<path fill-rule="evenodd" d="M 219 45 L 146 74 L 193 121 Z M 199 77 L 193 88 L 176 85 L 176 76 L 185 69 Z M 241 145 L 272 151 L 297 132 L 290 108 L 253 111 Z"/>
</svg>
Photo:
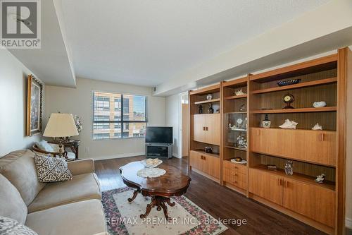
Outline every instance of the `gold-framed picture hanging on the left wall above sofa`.
<svg viewBox="0 0 352 235">
<path fill-rule="evenodd" d="M 32 75 L 27 79 L 27 135 L 42 133 L 43 85 Z"/>
</svg>

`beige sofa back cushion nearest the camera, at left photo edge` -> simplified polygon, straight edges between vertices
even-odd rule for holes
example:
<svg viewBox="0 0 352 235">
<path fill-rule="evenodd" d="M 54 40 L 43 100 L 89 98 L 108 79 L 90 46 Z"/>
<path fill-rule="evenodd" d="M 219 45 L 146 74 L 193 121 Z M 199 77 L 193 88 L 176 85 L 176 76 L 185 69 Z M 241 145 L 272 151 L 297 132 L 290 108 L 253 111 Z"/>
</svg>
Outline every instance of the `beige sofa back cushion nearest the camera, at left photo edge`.
<svg viewBox="0 0 352 235">
<path fill-rule="evenodd" d="M 0 216 L 9 217 L 25 224 L 27 206 L 17 188 L 1 174 L 0 188 Z"/>
</svg>

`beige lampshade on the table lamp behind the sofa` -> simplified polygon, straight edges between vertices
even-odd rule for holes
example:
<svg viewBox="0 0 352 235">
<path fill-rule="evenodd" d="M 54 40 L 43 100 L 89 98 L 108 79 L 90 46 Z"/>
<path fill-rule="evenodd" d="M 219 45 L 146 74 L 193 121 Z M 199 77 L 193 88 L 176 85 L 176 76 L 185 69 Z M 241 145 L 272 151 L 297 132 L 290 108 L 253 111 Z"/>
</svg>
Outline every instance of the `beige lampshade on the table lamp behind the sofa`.
<svg viewBox="0 0 352 235">
<path fill-rule="evenodd" d="M 43 136 L 69 137 L 78 135 L 72 114 L 51 114 Z"/>
</svg>

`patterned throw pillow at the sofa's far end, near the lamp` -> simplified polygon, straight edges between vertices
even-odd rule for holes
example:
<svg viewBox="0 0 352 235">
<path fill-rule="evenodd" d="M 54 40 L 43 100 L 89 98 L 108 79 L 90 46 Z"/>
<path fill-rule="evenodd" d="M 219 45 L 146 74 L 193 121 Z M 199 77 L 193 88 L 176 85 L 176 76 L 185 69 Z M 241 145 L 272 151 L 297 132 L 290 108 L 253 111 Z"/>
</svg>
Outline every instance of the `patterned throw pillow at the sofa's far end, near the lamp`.
<svg viewBox="0 0 352 235">
<path fill-rule="evenodd" d="M 38 156 L 34 157 L 39 182 L 70 181 L 72 174 L 63 158 Z"/>
</svg>

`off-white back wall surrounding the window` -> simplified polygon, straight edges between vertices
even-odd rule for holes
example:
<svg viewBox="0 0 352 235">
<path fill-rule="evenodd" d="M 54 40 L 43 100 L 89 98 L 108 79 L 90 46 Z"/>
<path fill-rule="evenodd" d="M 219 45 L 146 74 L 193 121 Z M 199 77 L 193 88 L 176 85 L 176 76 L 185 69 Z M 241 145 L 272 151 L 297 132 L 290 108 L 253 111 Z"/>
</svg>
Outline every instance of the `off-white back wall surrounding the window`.
<svg viewBox="0 0 352 235">
<path fill-rule="evenodd" d="M 77 78 L 77 88 L 46 86 L 46 116 L 54 112 L 71 113 L 82 117 L 83 128 L 80 158 L 108 159 L 144 155 L 144 138 L 93 140 L 93 95 L 92 92 L 122 92 L 148 96 L 149 126 L 165 125 L 165 98 L 152 97 L 151 88 L 108 83 L 99 80 Z M 46 120 L 47 121 L 47 120 Z"/>
</svg>

